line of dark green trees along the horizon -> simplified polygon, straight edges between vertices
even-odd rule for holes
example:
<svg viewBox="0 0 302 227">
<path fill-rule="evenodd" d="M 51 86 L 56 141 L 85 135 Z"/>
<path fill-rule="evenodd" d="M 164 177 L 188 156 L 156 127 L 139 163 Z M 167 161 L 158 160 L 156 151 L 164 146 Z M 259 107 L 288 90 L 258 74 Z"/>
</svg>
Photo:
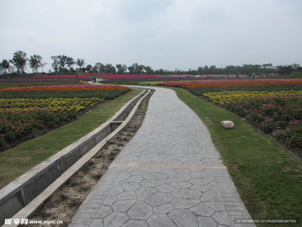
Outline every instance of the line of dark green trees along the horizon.
<svg viewBox="0 0 302 227">
<path fill-rule="evenodd" d="M 91 73 L 104 73 L 104 74 L 155 74 L 155 75 L 205 75 L 205 74 L 291 74 L 293 72 L 302 73 L 302 67 L 300 64 L 290 64 L 290 65 L 278 65 L 273 67 L 271 63 L 268 64 L 243 64 L 242 66 L 227 65 L 225 67 L 217 68 L 215 65 L 212 66 L 202 66 L 197 69 L 189 68 L 187 71 L 176 68 L 175 70 L 158 69 L 153 70 L 150 66 L 145 66 L 142 64 L 133 63 L 130 66 L 125 64 L 102 64 L 100 62 L 95 63 L 94 66 L 85 63 L 84 59 L 78 58 L 77 60 L 69 57 L 67 55 L 57 55 L 51 56 L 53 60 L 51 67 L 53 72 L 91 72 Z M 12 65 L 11 65 L 12 64 Z M 32 69 L 32 74 L 43 73 L 43 68 L 48 63 L 43 62 L 43 58 L 39 54 L 34 54 L 30 58 L 27 58 L 27 54 L 23 51 L 16 51 L 13 54 L 13 58 L 10 60 L 3 59 L 0 62 L 0 74 L 24 74 L 25 70 L 30 72 L 27 67 Z M 74 69 L 74 65 L 76 67 Z M 85 67 L 84 67 L 85 66 Z M 49 73 L 52 71 L 49 70 Z M 31 72 L 30 72 L 31 73 Z"/>
</svg>

